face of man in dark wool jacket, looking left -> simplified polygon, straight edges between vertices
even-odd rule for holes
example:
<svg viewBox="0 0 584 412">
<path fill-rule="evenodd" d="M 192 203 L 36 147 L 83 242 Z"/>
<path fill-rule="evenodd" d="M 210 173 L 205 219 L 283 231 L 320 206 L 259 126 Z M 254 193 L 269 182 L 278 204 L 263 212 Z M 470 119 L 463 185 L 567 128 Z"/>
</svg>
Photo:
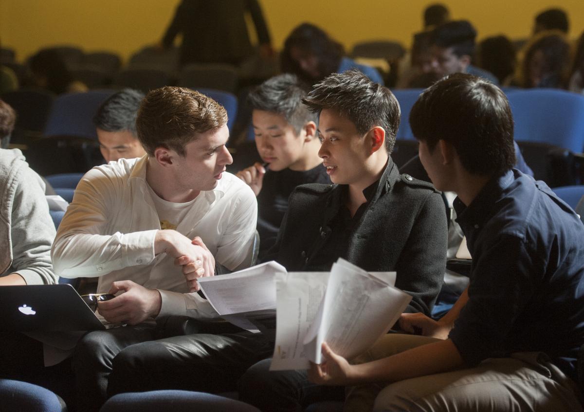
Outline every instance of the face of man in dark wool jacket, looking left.
<svg viewBox="0 0 584 412">
<path fill-rule="evenodd" d="M 338 111 L 324 109 L 318 122 L 321 148 L 318 155 L 333 183 L 360 184 L 366 174 L 366 160 L 370 155 L 366 139 L 354 123 Z"/>
</svg>

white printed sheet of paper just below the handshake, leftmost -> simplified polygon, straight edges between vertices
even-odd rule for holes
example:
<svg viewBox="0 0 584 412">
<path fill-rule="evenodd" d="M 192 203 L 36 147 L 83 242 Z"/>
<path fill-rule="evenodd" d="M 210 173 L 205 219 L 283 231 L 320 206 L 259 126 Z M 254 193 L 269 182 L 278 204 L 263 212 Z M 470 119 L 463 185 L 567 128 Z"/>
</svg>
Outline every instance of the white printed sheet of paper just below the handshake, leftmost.
<svg viewBox="0 0 584 412">
<path fill-rule="evenodd" d="M 220 316 L 275 309 L 277 273 L 286 273 L 286 268 L 269 261 L 235 273 L 200 278 L 199 285 Z"/>
</svg>

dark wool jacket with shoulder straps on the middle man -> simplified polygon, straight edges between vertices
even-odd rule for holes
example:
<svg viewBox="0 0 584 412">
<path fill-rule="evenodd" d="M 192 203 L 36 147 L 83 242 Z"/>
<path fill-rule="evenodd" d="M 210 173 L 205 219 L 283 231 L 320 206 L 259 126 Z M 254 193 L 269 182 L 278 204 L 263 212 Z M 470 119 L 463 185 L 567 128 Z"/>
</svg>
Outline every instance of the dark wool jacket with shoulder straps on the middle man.
<svg viewBox="0 0 584 412">
<path fill-rule="evenodd" d="M 432 184 L 399 174 L 392 160 L 378 194 L 349 240 L 345 259 L 366 271 L 396 271 L 395 286 L 413 296 L 406 312 L 430 315 L 446 268 L 447 220 L 444 202 Z M 341 205 L 343 187 L 305 184 L 290 195 L 276 245 L 264 260 L 288 271 L 311 267 L 311 258 L 329 239 L 329 222 Z"/>
</svg>

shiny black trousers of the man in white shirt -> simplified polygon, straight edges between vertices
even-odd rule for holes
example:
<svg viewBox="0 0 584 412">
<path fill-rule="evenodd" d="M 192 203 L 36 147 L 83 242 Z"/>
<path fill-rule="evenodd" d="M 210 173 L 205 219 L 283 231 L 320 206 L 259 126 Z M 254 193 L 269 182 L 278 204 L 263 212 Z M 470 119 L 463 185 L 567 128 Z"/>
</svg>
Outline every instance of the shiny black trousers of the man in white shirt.
<svg viewBox="0 0 584 412">
<path fill-rule="evenodd" d="M 273 350 L 261 334 L 238 330 L 161 338 L 155 325 L 139 324 L 89 332 L 73 358 L 78 408 L 98 411 L 122 392 L 235 390 L 239 376 Z"/>
</svg>

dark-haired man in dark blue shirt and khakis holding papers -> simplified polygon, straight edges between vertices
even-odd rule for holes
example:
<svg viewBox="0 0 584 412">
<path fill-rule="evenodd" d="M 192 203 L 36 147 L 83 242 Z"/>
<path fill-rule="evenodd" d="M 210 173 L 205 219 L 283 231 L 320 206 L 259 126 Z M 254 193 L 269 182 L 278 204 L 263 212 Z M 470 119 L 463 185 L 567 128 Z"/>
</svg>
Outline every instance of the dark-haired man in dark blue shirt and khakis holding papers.
<svg viewBox="0 0 584 412">
<path fill-rule="evenodd" d="M 582 410 L 584 225 L 545 183 L 516 169 L 513 118 L 499 88 L 451 75 L 410 114 L 419 155 L 454 202 L 471 282 L 438 322 L 404 314 L 402 329 L 349 364 L 326 344 L 313 382 L 352 385 L 345 410 Z"/>
</svg>

